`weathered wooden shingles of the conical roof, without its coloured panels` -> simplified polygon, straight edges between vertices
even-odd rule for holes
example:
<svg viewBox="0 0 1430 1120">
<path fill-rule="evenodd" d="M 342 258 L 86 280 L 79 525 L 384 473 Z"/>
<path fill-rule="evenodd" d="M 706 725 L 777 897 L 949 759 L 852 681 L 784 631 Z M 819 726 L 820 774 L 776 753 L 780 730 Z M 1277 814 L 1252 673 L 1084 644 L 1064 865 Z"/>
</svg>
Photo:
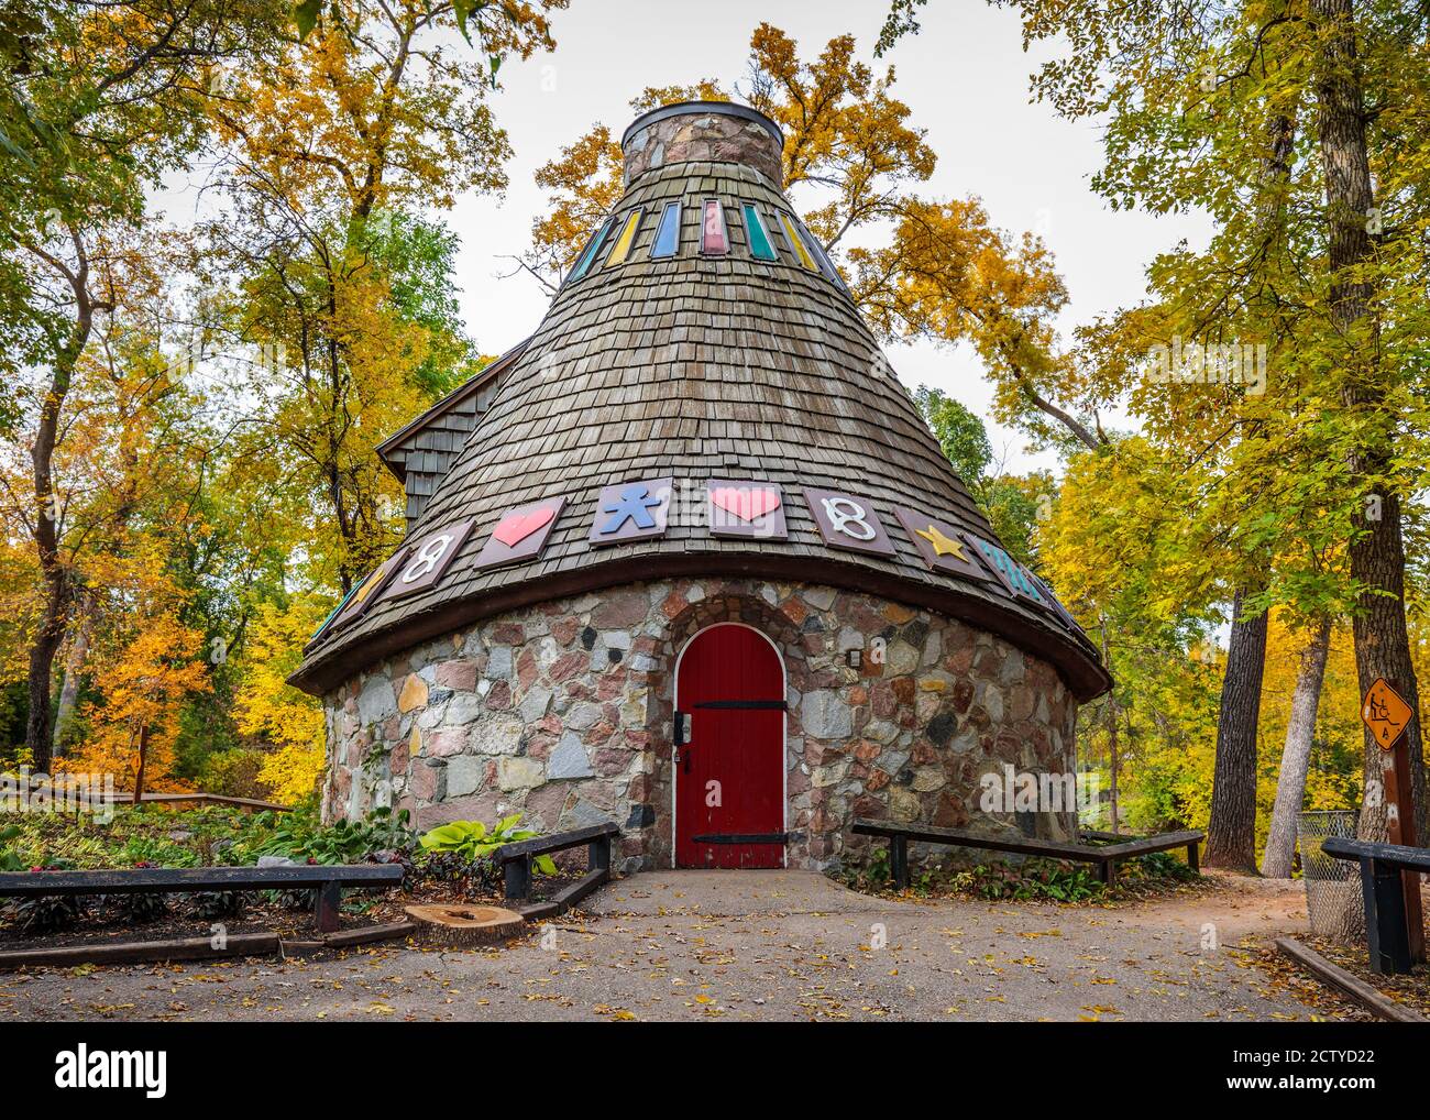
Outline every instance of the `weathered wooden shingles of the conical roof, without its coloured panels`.
<svg viewBox="0 0 1430 1120">
<path fill-rule="evenodd" d="M 615 227 L 635 207 L 642 217 L 625 262 L 605 263 L 608 239 L 589 272 L 566 282 L 408 539 L 468 519 L 470 536 L 430 588 L 379 594 L 356 624 L 320 634 L 295 684 L 326 691 L 419 641 L 561 595 L 676 575 L 748 575 L 831 584 L 964 618 L 1054 664 L 1080 698 L 1107 688 L 1095 649 L 1060 611 L 991 578 L 925 564 L 895 508 L 997 544 L 992 528 L 842 283 L 801 265 L 781 226 L 794 210 L 756 170 L 768 166 L 768 152 L 741 159 L 739 143 L 699 139 L 704 126 L 731 120 L 746 142 L 751 130 L 778 136 L 754 110 L 734 109 L 738 119 L 719 104 L 648 114 L 658 127 L 654 139 L 639 137 L 635 160 L 632 132 L 646 119 L 626 133 L 631 182 Z M 699 249 L 708 199 L 724 206 L 724 256 Z M 671 202 L 681 203 L 679 249 L 652 259 Z M 745 203 L 765 216 L 778 260 L 751 255 Z M 716 538 L 705 525 L 672 519 L 662 536 L 589 544 L 603 486 L 664 476 L 676 486 L 712 478 L 779 483 L 788 539 Z M 895 555 L 827 545 L 805 488 L 868 501 Z M 536 559 L 473 564 L 503 514 L 555 496 L 568 501 Z"/>
</svg>

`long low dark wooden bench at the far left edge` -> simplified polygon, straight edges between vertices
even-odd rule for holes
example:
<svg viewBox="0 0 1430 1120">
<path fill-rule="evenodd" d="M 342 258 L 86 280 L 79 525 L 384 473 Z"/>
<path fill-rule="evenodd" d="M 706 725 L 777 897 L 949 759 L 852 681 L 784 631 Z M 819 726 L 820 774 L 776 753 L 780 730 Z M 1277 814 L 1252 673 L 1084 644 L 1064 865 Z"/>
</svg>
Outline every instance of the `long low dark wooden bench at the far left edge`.
<svg viewBox="0 0 1430 1120">
<path fill-rule="evenodd" d="M 134 867 L 116 871 L 6 871 L 0 898 L 50 894 L 182 894 L 316 888 L 320 933 L 337 928 L 343 887 L 398 887 L 398 864 L 299 864 L 296 867 Z"/>
</svg>

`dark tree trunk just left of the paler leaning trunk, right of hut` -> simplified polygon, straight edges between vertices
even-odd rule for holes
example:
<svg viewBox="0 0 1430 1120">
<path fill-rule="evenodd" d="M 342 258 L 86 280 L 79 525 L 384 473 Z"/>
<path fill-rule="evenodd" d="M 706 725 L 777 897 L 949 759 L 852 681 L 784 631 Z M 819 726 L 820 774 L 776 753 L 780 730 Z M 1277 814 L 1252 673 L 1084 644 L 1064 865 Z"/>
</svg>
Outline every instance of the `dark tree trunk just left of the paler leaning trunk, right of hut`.
<svg viewBox="0 0 1430 1120">
<path fill-rule="evenodd" d="M 1207 867 L 1256 874 L 1256 725 L 1266 669 L 1266 611 L 1243 618 L 1256 588 L 1237 588 L 1231 601 L 1231 642 L 1221 681 L 1217 765 L 1211 780 Z"/>
</svg>

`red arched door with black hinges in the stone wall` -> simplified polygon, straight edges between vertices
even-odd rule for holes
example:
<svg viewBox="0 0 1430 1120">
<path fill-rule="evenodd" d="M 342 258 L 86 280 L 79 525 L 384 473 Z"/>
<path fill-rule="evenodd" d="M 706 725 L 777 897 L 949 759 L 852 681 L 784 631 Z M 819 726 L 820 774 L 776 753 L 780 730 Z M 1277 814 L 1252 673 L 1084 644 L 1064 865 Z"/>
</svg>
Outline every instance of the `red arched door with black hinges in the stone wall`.
<svg viewBox="0 0 1430 1120">
<path fill-rule="evenodd" d="M 678 867 L 784 867 L 785 674 L 758 631 L 722 622 L 681 655 L 675 748 Z M 679 738 L 679 735 L 676 735 Z"/>
</svg>

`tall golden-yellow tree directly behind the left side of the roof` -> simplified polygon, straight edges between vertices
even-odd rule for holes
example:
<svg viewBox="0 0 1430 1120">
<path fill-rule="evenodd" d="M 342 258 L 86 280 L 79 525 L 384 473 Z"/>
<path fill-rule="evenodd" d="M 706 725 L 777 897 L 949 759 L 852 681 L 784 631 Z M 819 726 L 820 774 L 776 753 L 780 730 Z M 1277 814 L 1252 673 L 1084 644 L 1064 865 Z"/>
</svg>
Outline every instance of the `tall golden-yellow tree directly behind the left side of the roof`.
<svg viewBox="0 0 1430 1120">
<path fill-rule="evenodd" d="M 376 442 L 476 369 L 455 239 L 418 215 L 450 207 L 458 183 L 505 185 L 489 93 L 503 57 L 553 44 L 561 7 L 340 0 L 213 107 L 230 212 L 207 229 L 212 262 L 232 280 L 227 325 L 267 358 L 252 462 L 317 511 L 319 585 L 347 591 L 396 539 Z"/>
</svg>

